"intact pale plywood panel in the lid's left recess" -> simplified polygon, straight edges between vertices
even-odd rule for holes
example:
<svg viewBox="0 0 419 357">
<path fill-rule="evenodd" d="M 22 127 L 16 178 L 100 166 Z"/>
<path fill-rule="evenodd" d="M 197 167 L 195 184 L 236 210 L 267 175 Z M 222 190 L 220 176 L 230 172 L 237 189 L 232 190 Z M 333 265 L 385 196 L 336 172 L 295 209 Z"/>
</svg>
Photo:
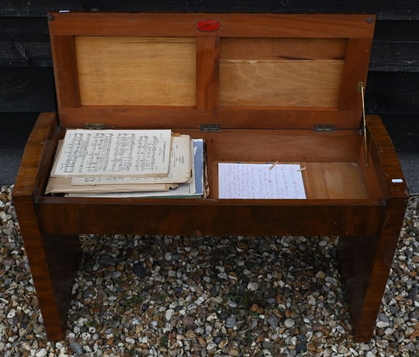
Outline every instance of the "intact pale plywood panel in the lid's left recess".
<svg viewBox="0 0 419 357">
<path fill-rule="evenodd" d="M 195 106 L 195 38 L 75 37 L 82 105 Z"/>
</svg>

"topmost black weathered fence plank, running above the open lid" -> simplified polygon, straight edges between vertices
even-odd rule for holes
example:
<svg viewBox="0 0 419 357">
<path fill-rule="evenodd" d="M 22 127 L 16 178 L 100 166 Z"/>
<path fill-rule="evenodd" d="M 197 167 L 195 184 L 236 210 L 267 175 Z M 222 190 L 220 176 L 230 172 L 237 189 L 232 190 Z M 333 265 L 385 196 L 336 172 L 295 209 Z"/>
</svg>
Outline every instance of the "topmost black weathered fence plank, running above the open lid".
<svg viewBox="0 0 419 357">
<path fill-rule="evenodd" d="M 250 0 L 234 0 L 220 2 L 218 0 L 180 1 L 170 0 L 166 2 L 122 0 L 90 1 L 53 1 L 41 0 L 27 2 L 23 0 L 0 2 L 1 16 L 44 16 L 47 11 L 59 10 L 83 10 L 83 11 L 149 11 L 149 12 L 268 12 L 268 13 L 375 13 L 379 19 L 411 20 L 419 19 L 419 3 L 415 0 L 402 2 L 382 2 L 372 0 L 369 2 L 322 0 L 306 2 L 294 1 L 265 1 L 253 2 Z"/>
</svg>

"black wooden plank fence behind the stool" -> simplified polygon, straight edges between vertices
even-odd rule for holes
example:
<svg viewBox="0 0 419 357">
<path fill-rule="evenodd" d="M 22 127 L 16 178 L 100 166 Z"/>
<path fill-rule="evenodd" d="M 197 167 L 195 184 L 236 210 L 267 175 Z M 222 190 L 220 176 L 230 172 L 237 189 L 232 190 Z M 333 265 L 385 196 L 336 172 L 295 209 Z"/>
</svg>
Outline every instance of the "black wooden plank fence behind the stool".
<svg viewBox="0 0 419 357">
<path fill-rule="evenodd" d="M 375 13 L 366 110 L 380 114 L 400 150 L 419 151 L 419 2 L 7 1 L 0 2 L 0 146 L 25 140 L 56 99 L 47 11 Z"/>
</svg>

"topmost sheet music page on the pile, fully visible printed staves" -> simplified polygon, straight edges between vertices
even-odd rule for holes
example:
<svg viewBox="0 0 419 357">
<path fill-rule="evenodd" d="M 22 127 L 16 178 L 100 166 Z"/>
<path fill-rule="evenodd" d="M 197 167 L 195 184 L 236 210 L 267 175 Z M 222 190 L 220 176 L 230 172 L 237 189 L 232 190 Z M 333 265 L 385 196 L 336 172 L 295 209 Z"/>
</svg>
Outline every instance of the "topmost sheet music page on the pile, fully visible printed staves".
<svg viewBox="0 0 419 357">
<path fill-rule="evenodd" d="M 166 175 L 171 130 L 67 130 L 51 176 Z"/>
</svg>

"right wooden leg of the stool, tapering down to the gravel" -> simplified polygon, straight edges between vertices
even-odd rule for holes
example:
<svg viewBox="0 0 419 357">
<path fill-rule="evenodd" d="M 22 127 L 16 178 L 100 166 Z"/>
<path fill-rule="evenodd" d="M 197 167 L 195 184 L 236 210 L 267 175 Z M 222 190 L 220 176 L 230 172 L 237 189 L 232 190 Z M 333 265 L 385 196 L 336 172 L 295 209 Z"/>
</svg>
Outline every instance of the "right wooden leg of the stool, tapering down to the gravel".
<svg viewBox="0 0 419 357">
<path fill-rule="evenodd" d="M 389 200 L 377 237 L 339 237 L 337 255 L 347 291 L 355 342 L 370 342 L 405 213 Z"/>
</svg>

